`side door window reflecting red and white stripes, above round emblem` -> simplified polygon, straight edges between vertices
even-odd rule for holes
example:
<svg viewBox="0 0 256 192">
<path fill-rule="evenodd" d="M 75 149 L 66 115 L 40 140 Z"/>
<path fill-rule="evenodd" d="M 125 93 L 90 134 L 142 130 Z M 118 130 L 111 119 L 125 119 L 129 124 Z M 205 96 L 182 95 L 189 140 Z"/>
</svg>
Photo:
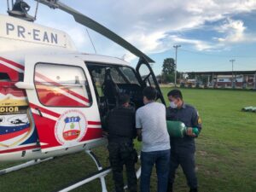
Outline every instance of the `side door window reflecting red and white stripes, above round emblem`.
<svg viewBox="0 0 256 192">
<path fill-rule="evenodd" d="M 90 107 L 90 89 L 81 67 L 38 63 L 34 83 L 39 101 L 49 107 Z"/>
</svg>

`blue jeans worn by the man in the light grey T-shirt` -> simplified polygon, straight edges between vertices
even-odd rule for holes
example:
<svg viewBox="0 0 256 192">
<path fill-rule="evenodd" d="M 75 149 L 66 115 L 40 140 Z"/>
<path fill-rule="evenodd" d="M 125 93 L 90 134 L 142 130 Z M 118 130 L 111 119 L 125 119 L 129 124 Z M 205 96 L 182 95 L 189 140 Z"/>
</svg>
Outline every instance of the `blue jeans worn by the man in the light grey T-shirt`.
<svg viewBox="0 0 256 192">
<path fill-rule="evenodd" d="M 150 176 L 155 164 L 157 173 L 157 191 L 166 192 L 169 176 L 170 149 L 153 152 L 142 152 L 142 175 L 141 175 L 141 192 L 150 191 Z"/>
</svg>

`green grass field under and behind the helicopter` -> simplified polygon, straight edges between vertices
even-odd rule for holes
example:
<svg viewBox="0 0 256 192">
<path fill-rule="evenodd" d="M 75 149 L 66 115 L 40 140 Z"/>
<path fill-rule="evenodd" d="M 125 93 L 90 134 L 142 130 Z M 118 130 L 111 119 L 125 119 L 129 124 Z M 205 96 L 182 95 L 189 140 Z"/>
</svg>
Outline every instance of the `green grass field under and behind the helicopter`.
<svg viewBox="0 0 256 192">
<path fill-rule="evenodd" d="M 166 96 L 168 88 L 163 88 Z M 198 109 L 203 130 L 196 140 L 196 165 L 201 192 L 256 191 L 256 113 L 241 112 L 245 106 L 256 106 L 256 92 L 235 90 L 189 90 L 183 97 Z M 140 143 L 136 143 L 140 148 Z M 95 153 L 108 166 L 108 151 Z M 1 164 L 0 169 L 13 164 Z M 84 153 L 72 154 L 0 177 L 0 191 L 55 191 L 80 177 L 96 171 Z M 155 173 L 152 190 L 156 191 Z M 111 175 L 108 191 L 113 191 Z M 100 182 L 85 184 L 73 191 L 101 191 Z M 188 191 L 182 170 L 177 171 L 175 191 Z"/>
</svg>

